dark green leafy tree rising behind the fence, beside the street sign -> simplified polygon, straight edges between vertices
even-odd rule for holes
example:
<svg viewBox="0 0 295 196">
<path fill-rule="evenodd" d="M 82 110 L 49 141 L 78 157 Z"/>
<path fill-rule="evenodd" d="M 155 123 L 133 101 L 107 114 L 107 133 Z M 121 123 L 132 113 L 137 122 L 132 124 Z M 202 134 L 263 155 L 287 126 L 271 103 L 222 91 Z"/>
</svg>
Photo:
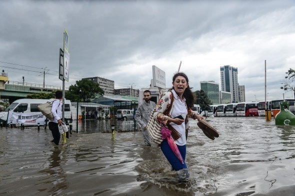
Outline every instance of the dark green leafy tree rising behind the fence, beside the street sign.
<svg viewBox="0 0 295 196">
<path fill-rule="evenodd" d="M 96 94 L 104 94 L 98 83 L 88 79 L 77 80 L 74 85 L 70 85 L 65 93 L 66 99 L 73 102 L 83 101 L 89 102 L 95 98 Z"/>
</svg>

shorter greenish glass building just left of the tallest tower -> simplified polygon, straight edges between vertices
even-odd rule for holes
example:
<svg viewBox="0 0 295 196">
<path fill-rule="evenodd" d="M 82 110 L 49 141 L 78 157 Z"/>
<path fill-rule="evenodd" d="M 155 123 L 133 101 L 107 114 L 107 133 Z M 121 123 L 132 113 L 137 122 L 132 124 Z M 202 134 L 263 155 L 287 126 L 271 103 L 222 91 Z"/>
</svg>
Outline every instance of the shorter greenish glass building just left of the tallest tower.
<svg viewBox="0 0 295 196">
<path fill-rule="evenodd" d="M 219 84 L 214 81 L 200 81 L 200 87 L 213 104 L 219 104 Z"/>
</svg>

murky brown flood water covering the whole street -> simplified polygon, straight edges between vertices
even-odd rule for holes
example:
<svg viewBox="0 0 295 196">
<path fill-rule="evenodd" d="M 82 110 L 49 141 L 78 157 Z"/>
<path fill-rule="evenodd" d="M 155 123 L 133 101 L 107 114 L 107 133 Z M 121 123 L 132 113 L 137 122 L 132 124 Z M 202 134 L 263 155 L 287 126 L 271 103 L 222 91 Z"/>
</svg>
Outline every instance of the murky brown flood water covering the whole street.
<svg viewBox="0 0 295 196">
<path fill-rule="evenodd" d="M 114 140 L 73 132 L 56 147 L 49 130 L 0 128 L 0 195 L 295 195 L 295 127 L 264 117 L 208 121 L 215 140 L 190 120 L 186 182 L 140 131 Z"/>
</svg>

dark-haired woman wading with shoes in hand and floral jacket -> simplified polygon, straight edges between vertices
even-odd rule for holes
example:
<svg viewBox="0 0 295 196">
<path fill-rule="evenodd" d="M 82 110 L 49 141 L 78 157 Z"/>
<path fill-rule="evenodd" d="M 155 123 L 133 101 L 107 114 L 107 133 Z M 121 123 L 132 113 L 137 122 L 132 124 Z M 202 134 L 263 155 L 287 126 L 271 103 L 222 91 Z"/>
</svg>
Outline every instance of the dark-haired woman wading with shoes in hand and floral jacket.
<svg viewBox="0 0 295 196">
<path fill-rule="evenodd" d="M 189 177 L 185 163 L 188 117 L 197 119 L 198 121 L 204 119 L 204 117 L 197 115 L 190 109 L 194 103 L 194 96 L 188 85 L 188 78 L 183 72 L 174 74 L 172 85 L 173 87 L 164 92 L 160 97 L 154 108 L 153 117 L 172 131 L 171 136 L 182 156 L 183 163 L 177 158 L 169 146 L 167 139 L 163 139 L 160 143 L 160 148 L 171 164 L 172 169 L 177 171 L 179 180 L 185 180 Z M 169 107 L 171 107 L 170 112 L 165 115 L 164 111 Z M 179 115 L 182 115 L 184 119 L 174 118 Z"/>
</svg>

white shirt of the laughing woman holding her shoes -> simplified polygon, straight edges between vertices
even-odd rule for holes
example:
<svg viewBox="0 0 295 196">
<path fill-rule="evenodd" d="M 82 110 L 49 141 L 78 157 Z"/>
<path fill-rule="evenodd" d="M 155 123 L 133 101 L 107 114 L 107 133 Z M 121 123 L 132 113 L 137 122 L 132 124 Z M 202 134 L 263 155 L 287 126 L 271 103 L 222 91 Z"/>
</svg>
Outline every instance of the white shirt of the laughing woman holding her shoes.
<svg viewBox="0 0 295 196">
<path fill-rule="evenodd" d="M 171 92 L 174 96 L 174 106 L 172 108 L 171 117 L 176 117 L 177 115 L 182 114 L 183 117 L 187 115 L 187 109 L 185 105 L 185 98 L 180 100 L 180 97 L 176 94 L 175 90 L 172 89 Z M 179 137 L 177 140 L 175 140 L 175 143 L 177 145 L 185 145 L 186 144 L 186 138 L 185 138 L 185 123 L 182 122 L 180 125 L 175 124 L 174 122 L 170 122 L 171 126 L 175 128 L 180 134 L 181 137 Z"/>
</svg>

